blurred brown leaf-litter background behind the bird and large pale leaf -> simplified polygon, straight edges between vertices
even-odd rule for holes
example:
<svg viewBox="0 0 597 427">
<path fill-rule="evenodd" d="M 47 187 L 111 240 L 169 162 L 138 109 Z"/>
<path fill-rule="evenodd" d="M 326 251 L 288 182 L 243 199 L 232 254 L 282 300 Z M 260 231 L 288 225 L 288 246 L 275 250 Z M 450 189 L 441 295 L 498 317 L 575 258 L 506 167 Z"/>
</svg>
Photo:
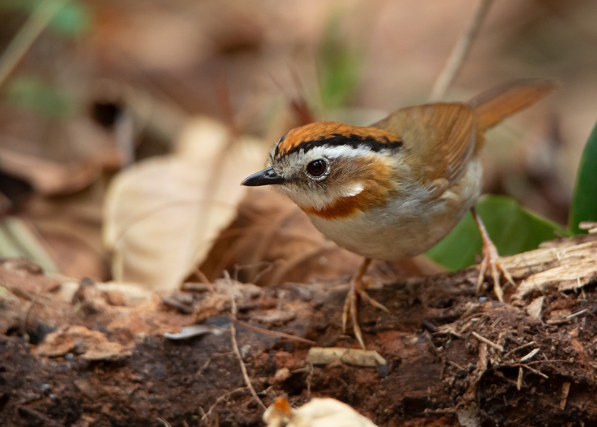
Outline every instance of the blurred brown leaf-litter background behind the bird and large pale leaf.
<svg viewBox="0 0 597 427">
<path fill-rule="evenodd" d="M 176 151 L 202 116 L 256 138 L 264 159 L 306 121 L 368 124 L 424 103 L 477 6 L 0 0 L 0 255 L 108 279 L 103 206 L 122 170 Z M 487 192 L 560 224 L 597 118 L 596 22 L 592 0 L 494 2 L 447 94 L 562 83 L 492 130 L 483 155 Z"/>
</svg>

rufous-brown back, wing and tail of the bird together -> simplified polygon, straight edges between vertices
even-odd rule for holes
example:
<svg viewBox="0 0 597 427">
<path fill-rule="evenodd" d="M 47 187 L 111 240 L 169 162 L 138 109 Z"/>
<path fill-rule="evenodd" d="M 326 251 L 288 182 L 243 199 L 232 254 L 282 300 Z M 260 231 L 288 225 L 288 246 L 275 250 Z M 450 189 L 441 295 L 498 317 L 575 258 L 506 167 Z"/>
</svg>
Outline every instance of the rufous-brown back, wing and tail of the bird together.
<svg viewBox="0 0 597 427">
<path fill-rule="evenodd" d="M 552 81 L 517 80 L 476 96 L 469 103 L 439 102 L 399 109 L 373 127 L 404 141 L 421 178 L 454 181 L 470 155 L 484 145 L 484 131 L 556 89 Z"/>
</svg>

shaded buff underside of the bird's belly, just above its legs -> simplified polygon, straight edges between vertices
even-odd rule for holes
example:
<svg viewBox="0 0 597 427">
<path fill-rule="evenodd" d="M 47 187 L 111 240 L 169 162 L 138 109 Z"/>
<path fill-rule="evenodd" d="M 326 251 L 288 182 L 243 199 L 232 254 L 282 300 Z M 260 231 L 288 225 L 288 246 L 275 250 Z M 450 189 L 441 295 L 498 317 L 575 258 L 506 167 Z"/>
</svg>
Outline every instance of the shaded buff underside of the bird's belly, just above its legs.
<svg viewBox="0 0 597 427">
<path fill-rule="evenodd" d="M 309 217 L 328 239 L 355 254 L 387 261 L 414 257 L 447 236 L 474 206 L 480 175 L 475 161 L 460 182 L 437 199 L 396 200 L 347 218 Z"/>
</svg>

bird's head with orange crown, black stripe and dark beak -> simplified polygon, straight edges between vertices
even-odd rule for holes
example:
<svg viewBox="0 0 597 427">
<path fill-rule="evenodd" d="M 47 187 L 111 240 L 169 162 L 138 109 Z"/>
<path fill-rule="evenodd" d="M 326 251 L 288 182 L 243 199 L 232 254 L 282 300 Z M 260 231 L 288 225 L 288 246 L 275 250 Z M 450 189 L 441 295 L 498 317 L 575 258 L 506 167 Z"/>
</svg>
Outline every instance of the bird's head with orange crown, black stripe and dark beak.
<svg viewBox="0 0 597 427">
<path fill-rule="evenodd" d="M 282 136 L 266 169 L 242 185 L 275 184 L 311 215 L 345 217 L 386 203 L 392 187 L 390 155 L 401 147 L 402 141 L 385 130 L 319 121 Z"/>
</svg>

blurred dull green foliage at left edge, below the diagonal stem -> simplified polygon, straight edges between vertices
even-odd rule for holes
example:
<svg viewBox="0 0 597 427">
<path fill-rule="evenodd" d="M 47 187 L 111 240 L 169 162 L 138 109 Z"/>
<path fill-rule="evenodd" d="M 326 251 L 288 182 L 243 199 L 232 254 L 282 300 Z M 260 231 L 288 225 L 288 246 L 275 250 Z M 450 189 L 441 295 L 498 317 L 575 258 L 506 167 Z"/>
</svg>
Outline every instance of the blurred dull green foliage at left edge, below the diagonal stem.
<svg viewBox="0 0 597 427">
<path fill-rule="evenodd" d="M 7 84 L 2 101 L 51 118 L 68 117 L 76 99 L 66 91 L 48 86 L 40 78 L 21 75 Z"/>
</svg>

